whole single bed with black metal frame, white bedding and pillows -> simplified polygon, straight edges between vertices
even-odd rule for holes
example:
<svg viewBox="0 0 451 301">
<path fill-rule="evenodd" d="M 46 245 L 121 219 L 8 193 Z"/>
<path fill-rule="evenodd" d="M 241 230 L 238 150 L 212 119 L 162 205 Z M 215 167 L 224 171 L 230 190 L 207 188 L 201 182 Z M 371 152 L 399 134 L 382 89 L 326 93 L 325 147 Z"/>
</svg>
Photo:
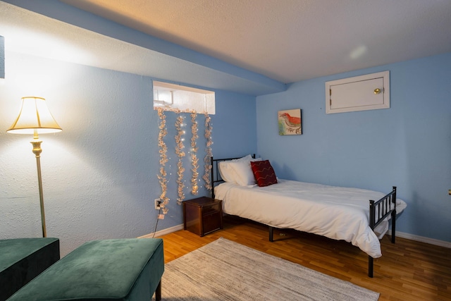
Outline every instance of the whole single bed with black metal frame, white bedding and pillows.
<svg viewBox="0 0 451 301">
<path fill-rule="evenodd" d="M 359 188 L 303 183 L 276 178 L 268 160 L 247 155 L 238 158 L 211 157 L 212 195 L 223 201 L 223 212 L 264 223 L 273 241 L 274 228 L 292 228 L 345 240 L 373 259 L 381 257 L 379 239 L 388 232 L 395 243 L 395 216 L 407 206 L 388 194 Z"/>
</svg>

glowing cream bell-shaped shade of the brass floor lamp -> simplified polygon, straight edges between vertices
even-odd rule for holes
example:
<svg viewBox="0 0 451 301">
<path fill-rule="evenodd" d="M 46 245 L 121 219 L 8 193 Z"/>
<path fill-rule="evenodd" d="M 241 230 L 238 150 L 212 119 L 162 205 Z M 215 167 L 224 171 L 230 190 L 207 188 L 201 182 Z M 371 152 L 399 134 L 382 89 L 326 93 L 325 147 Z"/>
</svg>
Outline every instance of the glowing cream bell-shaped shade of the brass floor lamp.
<svg viewBox="0 0 451 301">
<path fill-rule="evenodd" d="M 61 128 L 51 116 L 44 98 L 22 97 L 19 116 L 6 132 L 34 134 L 35 131 L 40 134 L 56 133 L 60 132 Z"/>
</svg>

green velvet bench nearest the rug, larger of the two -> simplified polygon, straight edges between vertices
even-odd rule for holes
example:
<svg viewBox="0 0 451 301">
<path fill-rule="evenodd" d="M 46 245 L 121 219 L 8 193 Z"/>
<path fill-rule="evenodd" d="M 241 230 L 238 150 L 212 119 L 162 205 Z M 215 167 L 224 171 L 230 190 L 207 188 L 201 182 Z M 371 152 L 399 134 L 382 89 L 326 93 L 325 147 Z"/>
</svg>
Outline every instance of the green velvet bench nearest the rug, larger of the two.
<svg viewBox="0 0 451 301">
<path fill-rule="evenodd" d="M 161 300 L 161 238 L 86 242 L 18 290 L 8 301 Z"/>
</svg>

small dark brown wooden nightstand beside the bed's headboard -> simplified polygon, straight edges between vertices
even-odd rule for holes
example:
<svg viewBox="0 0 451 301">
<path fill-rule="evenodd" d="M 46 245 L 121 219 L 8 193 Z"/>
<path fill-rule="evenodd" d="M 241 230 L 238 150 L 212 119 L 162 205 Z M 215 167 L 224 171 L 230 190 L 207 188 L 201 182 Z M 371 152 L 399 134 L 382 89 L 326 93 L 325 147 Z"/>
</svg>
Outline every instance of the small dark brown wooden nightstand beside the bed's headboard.
<svg viewBox="0 0 451 301">
<path fill-rule="evenodd" d="M 223 228 L 223 201 L 198 197 L 183 202 L 183 228 L 204 236 Z"/>
</svg>

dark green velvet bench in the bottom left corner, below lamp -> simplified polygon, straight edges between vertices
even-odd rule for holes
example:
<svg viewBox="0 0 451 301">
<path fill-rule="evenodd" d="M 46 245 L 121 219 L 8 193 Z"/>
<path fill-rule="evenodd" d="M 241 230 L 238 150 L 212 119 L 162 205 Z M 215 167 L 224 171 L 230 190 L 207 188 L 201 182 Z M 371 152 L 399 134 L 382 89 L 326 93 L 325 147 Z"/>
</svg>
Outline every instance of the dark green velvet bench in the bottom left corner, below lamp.
<svg viewBox="0 0 451 301">
<path fill-rule="evenodd" d="M 58 259 L 58 238 L 0 240 L 0 301 L 11 297 Z"/>
</svg>

